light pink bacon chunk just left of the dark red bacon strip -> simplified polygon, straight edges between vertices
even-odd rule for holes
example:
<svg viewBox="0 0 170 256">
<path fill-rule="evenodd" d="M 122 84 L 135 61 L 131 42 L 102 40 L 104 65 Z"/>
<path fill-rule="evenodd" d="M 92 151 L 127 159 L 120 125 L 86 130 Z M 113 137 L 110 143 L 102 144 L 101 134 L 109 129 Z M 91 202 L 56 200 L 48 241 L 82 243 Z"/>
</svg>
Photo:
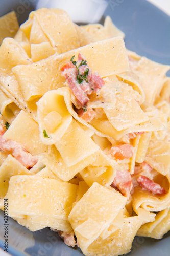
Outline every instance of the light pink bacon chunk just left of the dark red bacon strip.
<svg viewBox="0 0 170 256">
<path fill-rule="evenodd" d="M 123 170 L 120 172 L 119 170 L 117 170 L 116 177 L 114 178 L 111 187 L 117 187 L 119 191 L 129 199 L 133 187 L 132 178 L 129 171 Z"/>
</svg>

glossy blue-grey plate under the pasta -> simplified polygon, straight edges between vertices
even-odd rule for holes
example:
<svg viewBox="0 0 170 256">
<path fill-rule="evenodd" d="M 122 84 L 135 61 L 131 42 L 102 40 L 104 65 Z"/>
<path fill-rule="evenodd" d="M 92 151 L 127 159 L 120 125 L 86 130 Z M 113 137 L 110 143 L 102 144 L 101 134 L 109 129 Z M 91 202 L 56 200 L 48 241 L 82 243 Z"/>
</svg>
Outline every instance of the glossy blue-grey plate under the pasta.
<svg viewBox="0 0 170 256">
<path fill-rule="evenodd" d="M 19 22 L 24 22 L 34 10 L 36 0 L 6 0 L 0 2 L 0 16 L 15 10 Z M 170 17 L 143 0 L 109 0 L 105 16 L 125 32 L 129 50 L 154 61 L 170 65 Z M 170 75 L 170 72 L 168 72 Z M 0 211 L 0 247 L 4 249 L 4 213 Z M 81 256 L 79 248 L 66 246 L 57 233 L 45 228 L 31 232 L 8 219 L 8 252 L 14 256 Z M 156 240 L 135 237 L 129 256 L 168 256 L 170 232 Z M 0 252 L 1 254 L 1 252 Z"/>
</svg>

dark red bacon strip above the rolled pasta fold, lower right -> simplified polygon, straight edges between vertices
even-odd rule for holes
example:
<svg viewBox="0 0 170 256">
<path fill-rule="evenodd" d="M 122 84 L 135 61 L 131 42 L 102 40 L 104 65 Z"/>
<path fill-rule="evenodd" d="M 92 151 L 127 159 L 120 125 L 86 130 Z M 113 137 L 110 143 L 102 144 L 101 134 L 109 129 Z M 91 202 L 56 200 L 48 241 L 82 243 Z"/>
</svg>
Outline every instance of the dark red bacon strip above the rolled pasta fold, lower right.
<svg viewBox="0 0 170 256">
<path fill-rule="evenodd" d="M 154 181 L 150 180 L 148 177 L 140 175 L 137 178 L 137 182 L 139 185 L 149 191 L 152 192 L 152 194 L 165 194 L 166 191 L 163 187 L 161 187 L 158 183 L 155 183 Z"/>
</svg>

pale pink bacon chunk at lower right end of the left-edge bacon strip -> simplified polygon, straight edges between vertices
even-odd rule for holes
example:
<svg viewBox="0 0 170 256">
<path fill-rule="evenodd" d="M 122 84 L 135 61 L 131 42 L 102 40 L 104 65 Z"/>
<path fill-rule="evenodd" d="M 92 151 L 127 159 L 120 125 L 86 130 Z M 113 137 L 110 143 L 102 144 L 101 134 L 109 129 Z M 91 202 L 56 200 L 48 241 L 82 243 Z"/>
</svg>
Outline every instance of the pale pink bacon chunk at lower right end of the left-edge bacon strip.
<svg viewBox="0 0 170 256">
<path fill-rule="evenodd" d="M 37 163 L 37 158 L 27 152 L 21 145 L 14 148 L 12 155 L 26 168 L 33 167 Z"/>
</svg>

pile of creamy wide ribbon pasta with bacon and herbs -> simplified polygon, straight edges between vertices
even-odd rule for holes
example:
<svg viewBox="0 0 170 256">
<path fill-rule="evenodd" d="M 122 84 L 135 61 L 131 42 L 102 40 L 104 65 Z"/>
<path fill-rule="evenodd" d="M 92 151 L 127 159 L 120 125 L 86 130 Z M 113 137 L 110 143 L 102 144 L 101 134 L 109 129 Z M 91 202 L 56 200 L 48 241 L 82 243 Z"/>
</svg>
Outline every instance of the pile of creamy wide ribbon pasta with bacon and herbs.
<svg viewBox="0 0 170 256">
<path fill-rule="evenodd" d="M 85 255 L 126 254 L 136 234 L 162 238 L 170 229 L 169 66 L 127 50 L 110 17 L 78 26 L 43 8 L 4 37 L 1 209 L 7 199 L 20 225 L 50 227 Z"/>
</svg>

